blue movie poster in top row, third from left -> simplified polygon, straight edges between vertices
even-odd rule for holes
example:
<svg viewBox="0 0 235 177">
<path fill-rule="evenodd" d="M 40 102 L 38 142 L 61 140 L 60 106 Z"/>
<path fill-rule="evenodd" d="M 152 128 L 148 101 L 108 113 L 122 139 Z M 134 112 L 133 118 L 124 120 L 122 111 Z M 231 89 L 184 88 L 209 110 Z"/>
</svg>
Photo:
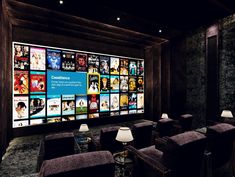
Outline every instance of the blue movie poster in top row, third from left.
<svg viewBox="0 0 235 177">
<path fill-rule="evenodd" d="M 47 69 L 60 70 L 61 69 L 61 51 L 47 49 Z"/>
</svg>

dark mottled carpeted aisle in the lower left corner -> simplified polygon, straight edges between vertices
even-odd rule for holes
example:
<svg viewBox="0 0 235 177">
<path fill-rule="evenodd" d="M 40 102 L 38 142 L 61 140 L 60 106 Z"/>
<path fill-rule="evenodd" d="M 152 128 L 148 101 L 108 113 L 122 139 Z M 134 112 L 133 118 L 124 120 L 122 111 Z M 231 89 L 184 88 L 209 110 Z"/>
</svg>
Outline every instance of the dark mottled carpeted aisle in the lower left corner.
<svg viewBox="0 0 235 177">
<path fill-rule="evenodd" d="M 0 176 L 16 177 L 35 173 L 41 139 L 42 135 L 13 139 L 0 164 Z"/>
</svg>

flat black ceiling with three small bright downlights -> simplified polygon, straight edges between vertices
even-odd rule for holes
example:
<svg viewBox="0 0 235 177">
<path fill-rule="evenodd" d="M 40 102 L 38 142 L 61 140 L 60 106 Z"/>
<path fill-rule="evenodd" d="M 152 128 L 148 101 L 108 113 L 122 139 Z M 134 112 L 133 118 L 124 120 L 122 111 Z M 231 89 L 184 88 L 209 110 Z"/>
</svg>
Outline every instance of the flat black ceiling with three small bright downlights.
<svg viewBox="0 0 235 177">
<path fill-rule="evenodd" d="M 63 0 L 62 5 L 59 0 L 19 1 L 162 36 L 210 25 L 235 13 L 235 0 Z"/>
</svg>

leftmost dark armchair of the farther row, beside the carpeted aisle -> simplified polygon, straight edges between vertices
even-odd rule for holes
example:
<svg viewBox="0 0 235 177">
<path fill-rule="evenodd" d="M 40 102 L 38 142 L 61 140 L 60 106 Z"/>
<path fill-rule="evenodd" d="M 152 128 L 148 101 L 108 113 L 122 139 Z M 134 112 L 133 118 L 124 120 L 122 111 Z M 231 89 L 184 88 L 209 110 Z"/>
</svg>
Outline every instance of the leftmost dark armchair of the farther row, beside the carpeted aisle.
<svg viewBox="0 0 235 177">
<path fill-rule="evenodd" d="M 37 171 L 44 160 L 74 154 L 74 134 L 63 132 L 46 135 L 40 142 Z"/>
</svg>

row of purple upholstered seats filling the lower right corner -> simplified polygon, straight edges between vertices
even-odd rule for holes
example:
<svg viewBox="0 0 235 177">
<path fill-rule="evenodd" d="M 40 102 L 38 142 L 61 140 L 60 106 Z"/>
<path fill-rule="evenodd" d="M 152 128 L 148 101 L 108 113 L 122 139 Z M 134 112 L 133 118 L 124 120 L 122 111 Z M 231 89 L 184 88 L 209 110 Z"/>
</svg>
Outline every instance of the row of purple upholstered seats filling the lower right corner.
<svg viewBox="0 0 235 177">
<path fill-rule="evenodd" d="M 235 127 L 220 123 L 207 127 L 206 134 L 188 131 L 159 138 L 155 146 L 129 146 L 133 177 L 232 177 L 234 138 Z"/>
</svg>

